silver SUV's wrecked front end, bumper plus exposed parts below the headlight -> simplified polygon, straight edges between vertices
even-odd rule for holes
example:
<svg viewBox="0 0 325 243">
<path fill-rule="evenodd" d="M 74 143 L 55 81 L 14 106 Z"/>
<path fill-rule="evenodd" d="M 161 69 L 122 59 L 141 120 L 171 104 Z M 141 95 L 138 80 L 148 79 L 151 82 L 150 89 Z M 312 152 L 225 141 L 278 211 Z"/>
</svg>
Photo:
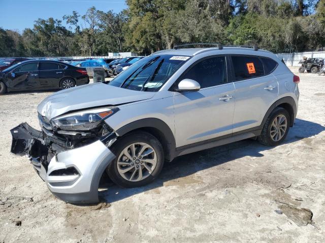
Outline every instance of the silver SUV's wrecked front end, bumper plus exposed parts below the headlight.
<svg viewBox="0 0 325 243">
<path fill-rule="evenodd" d="M 58 198 L 74 204 L 98 203 L 101 176 L 115 158 L 109 149 L 115 132 L 103 119 L 82 131 L 62 130 L 41 114 L 39 121 L 42 131 L 26 123 L 11 130 L 11 152 L 26 155 Z"/>
</svg>

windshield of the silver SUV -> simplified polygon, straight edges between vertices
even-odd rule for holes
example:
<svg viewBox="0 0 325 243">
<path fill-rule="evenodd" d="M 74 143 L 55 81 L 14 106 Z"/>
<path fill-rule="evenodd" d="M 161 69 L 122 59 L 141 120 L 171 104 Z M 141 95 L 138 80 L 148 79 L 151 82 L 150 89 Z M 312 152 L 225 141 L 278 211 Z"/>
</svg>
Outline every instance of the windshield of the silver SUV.
<svg viewBox="0 0 325 243">
<path fill-rule="evenodd" d="M 129 90 L 156 92 L 189 58 L 174 55 L 149 56 L 139 60 L 107 84 Z"/>
</svg>

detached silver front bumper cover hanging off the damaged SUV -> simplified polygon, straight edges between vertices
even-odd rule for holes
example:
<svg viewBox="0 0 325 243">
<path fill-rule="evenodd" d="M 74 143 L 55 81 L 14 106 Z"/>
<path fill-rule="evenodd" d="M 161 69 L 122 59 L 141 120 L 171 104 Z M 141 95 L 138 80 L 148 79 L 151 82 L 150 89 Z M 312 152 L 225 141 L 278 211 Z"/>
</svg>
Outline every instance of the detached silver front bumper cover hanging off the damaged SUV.
<svg viewBox="0 0 325 243">
<path fill-rule="evenodd" d="M 43 133 L 26 123 L 10 131 L 11 152 L 25 154 L 56 197 L 72 204 L 99 202 L 98 187 L 101 176 L 115 158 L 102 141 L 53 152 L 46 144 Z"/>
</svg>

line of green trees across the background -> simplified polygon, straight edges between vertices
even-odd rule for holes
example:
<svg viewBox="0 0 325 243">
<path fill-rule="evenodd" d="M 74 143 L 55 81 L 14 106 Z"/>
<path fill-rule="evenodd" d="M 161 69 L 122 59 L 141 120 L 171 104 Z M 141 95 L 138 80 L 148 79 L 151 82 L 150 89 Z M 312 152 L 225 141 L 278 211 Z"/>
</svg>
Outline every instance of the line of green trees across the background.
<svg viewBox="0 0 325 243">
<path fill-rule="evenodd" d="M 126 0 L 120 13 L 89 8 L 0 28 L 0 56 L 141 55 L 184 43 L 257 45 L 275 53 L 325 45 L 325 0 Z"/>
</svg>

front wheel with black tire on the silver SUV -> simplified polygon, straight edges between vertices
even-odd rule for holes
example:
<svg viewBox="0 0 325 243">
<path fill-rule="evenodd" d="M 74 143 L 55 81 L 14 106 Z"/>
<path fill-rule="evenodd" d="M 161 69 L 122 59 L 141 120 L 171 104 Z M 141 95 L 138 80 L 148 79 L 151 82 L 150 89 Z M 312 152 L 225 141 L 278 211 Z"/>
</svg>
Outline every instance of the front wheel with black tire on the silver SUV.
<svg viewBox="0 0 325 243">
<path fill-rule="evenodd" d="M 119 139 L 111 148 L 116 158 L 107 167 L 111 180 L 121 187 L 138 187 L 152 182 L 164 165 L 164 150 L 151 134 L 136 132 Z"/>
</svg>

